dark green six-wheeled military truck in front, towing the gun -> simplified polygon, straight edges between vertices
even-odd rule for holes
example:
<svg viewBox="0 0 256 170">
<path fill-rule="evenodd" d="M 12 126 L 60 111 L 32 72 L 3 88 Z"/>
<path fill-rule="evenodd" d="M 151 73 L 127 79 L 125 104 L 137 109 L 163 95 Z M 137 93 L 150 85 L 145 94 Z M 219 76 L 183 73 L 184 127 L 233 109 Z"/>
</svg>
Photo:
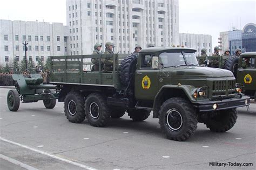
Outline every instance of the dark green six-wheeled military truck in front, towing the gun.
<svg viewBox="0 0 256 170">
<path fill-rule="evenodd" d="M 99 54 L 51 56 L 51 81 L 64 102 L 66 118 L 102 127 L 125 112 L 144 121 L 152 112 L 168 139 L 184 141 L 197 123 L 214 132 L 230 130 L 238 107 L 248 107 L 232 72 L 198 67 L 195 49 L 151 47 L 138 55 Z M 91 58 L 99 71 L 91 71 Z M 102 70 L 111 59 L 112 71 Z M 21 95 L 21 94 L 20 94 Z"/>
</svg>

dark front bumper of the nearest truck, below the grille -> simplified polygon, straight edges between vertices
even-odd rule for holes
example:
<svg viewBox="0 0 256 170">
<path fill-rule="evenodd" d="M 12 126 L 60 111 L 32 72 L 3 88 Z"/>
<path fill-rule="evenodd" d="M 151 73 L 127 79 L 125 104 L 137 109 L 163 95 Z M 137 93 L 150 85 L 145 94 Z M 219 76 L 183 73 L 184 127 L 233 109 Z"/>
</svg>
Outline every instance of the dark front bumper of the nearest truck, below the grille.
<svg viewBox="0 0 256 170">
<path fill-rule="evenodd" d="M 213 109 L 213 105 L 217 104 L 217 109 Z M 222 101 L 203 101 L 196 105 L 199 111 L 216 111 L 232 108 L 245 107 L 250 105 L 250 97 L 242 96 L 241 98 L 229 98 Z"/>
</svg>

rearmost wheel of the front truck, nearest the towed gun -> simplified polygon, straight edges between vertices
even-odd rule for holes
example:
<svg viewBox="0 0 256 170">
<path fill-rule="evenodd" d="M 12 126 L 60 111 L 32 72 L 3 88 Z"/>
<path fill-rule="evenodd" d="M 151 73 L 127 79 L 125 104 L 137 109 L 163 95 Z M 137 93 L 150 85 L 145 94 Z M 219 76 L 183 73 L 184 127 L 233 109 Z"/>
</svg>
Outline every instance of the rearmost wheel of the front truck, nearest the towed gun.
<svg viewBox="0 0 256 170">
<path fill-rule="evenodd" d="M 64 112 L 66 118 L 72 123 L 82 123 L 85 119 L 85 99 L 77 91 L 70 91 L 64 101 Z"/>
</svg>

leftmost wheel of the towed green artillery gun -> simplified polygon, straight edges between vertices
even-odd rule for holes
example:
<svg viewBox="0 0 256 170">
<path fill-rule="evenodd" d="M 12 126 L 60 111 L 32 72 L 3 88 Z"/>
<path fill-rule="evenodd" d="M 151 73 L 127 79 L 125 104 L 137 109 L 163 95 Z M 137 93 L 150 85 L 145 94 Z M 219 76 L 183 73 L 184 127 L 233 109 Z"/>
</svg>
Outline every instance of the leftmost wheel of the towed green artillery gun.
<svg viewBox="0 0 256 170">
<path fill-rule="evenodd" d="M 7 105 L 10 111 L 19 109 L 19 93 L 17 90 L 9 90 L 7 94 Z"/>
</svg>

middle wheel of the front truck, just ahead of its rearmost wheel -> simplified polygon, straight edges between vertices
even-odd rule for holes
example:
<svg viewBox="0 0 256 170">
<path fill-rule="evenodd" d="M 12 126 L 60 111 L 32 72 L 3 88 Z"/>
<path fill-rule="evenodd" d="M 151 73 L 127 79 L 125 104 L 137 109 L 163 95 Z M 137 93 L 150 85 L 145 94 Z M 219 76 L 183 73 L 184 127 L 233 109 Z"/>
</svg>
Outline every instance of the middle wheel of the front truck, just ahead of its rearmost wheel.
<svg viewBox="0 0 256 170">
<path fill-rule="evenodd" d="M 103 127 L 110 118 L 110 109 L 107 107 L 106 96 L 92 93 L 85 100 L 85 114 L 92 126 Z"/>
</svg>

